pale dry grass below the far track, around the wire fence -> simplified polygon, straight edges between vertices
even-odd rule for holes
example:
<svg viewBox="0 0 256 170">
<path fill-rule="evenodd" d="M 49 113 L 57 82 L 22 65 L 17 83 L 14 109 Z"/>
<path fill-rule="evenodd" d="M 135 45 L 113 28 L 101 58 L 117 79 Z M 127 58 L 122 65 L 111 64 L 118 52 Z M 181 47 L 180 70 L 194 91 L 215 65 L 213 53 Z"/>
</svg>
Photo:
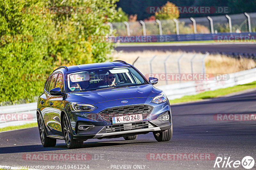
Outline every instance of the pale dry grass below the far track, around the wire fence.
<svg viewBox="0 0 256 170">
<path fill-rule="evenodd" d="M 152 58 L 154 55 L 158 56 L 179 56 L 182 54 L 181 51 L 179 52 L 171 52 L 171 51 L 143 51 L 143 52 L 119 52 L 114 53 L 113 58 L 115 60 L 124 60 L 127 63 L 132 64 L 138 56 L 140 56 L 140 59 L 145 58 L 145 60 L 149 60 L 149 58 Z M 191 56 L 195 53 L 191 53 Z M 141 61 L 141 60 L 140 60 Z M 183 60 L 184 61 L 184 60 Z M 189 60 L 188 60 L 189 62 Z M 256 62 L 252 59 L 234 59 L 226 56 L 221 55 L 209 55 L 205 59 L 205 67 L 206 67 L 206 73 L 234 73 L 238 71 L 243 71 L 247 69 L 251 69 L 256 67 Z"/>
</svg>

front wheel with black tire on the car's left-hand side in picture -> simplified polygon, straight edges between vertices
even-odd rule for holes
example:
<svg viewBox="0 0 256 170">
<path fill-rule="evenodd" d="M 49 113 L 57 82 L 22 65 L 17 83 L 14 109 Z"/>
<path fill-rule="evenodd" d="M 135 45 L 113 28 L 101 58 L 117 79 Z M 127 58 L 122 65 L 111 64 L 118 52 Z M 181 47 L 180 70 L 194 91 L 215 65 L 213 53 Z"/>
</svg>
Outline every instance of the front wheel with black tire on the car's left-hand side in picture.
<svg viewBox="0 0 256 170">
<path fill-rule="evenodd" d="M 62 120 L 63 134 L 68 149 L 81 148 L 84 144 L 84 141 L 78 141 L 73 139 L 68 117 L 64 115 Z"/>
</svg>

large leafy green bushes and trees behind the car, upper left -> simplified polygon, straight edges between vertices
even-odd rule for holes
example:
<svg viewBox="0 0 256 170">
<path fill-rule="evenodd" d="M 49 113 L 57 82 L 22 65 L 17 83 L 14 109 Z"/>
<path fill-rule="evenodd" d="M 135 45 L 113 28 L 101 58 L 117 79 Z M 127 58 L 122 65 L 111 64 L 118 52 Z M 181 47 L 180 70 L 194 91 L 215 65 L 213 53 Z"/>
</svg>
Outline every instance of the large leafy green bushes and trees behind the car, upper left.
<svg viewBox="0 0 256 170">
<path fill-rule="evenodd" d="M 67 0 L 61 4 L 57 0 L 3 0 L 0 4 L 0 102 L 15 103 L 19 99 L 30 102 L 38 96 L 44 80 L 27 79 L 28 74 L 47 75 L 62 65 L 111 60 L 112 43 L 91 37 L 109 35 L 106 23 L 125 18 L 120 9 L 116 10 L 116 1 Z M 89 11 L 43 14 L 28 10 L 60 6 Z M 17 37 L 19 40 L 14 39 Z"/>
</svg>

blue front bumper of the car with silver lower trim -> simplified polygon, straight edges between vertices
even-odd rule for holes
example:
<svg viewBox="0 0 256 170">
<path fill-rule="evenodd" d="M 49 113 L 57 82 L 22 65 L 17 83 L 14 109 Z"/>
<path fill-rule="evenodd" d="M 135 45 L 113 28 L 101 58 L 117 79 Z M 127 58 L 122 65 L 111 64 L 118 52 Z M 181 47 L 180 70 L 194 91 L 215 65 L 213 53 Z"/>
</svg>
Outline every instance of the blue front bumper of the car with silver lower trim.
<svg viewBox="0 0 256 170">
<path fill-rule="evenodd" d="M 107 122 L 98 115 L 98 111 L 95 111 L 96 113 L 87 114 L 86 117 L 79 117 L 72 114 L 71 126 L 73 138 L 76 140 L 87 140 L 91 138 L 119 138 L 170 129 L 172 126 L 172 114 L 169 102 L 161 104 L 150 103 L 150 105 L 153 107 L 153 110 L 148 117 L 143 118 L 143 121 L 125 124 L 112 124 L 112 122 Z M 101 110 L 99 110 L 99 112 L 100 111 Z M 157 119 L 167 111 L 170 114 L 170 121 Z M 77 130 L 77 127 L 80 124 L 94 125 L 94 127 L 89 128 L 86 131 L 80 131 Z"/>
</svg>

